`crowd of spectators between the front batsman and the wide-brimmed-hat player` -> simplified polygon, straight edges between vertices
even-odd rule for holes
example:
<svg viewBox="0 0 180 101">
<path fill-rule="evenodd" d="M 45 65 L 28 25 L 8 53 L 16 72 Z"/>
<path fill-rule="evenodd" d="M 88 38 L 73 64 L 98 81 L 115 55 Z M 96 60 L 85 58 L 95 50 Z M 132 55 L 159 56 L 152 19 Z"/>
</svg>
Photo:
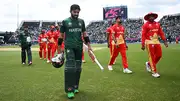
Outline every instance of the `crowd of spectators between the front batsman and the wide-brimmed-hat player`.
<svg viewBox="0 0 180 101">
<path fill-rule="evenodd" d="M 112 21 L 94 21 L 87 26 L 87 33 L 92 42 L 107 42 L 106 29 L 111 25 Z M 140 31 L 143 25 L 143 19 L 126 19 L 122 21 L 126 28 L 126 40 L 128 42 L 140 41 Z"/>
</svg>

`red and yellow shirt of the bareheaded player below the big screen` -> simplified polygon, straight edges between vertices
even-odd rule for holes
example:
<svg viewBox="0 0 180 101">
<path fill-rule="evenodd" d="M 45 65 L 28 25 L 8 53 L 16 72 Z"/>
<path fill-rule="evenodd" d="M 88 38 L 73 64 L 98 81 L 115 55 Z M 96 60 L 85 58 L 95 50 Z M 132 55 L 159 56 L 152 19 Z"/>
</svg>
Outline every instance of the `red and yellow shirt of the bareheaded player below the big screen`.
<svg viewBox="0 0 180 101">
<path fill-rule="evenodd" d="M 124 32 L 125 28 L 122 25 L 115 24 L 112 26 L 114 36 L 117 40 L 117 44 L 124 44 Z M 114 41 L 112 44 L 115 44 Z"/>
</svg>

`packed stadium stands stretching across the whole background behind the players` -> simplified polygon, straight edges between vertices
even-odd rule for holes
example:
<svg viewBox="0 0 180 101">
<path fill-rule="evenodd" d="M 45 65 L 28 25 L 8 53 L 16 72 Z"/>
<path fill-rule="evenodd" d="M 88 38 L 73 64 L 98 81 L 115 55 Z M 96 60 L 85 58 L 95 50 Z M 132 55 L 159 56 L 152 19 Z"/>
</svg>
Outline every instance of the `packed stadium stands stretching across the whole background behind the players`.
<svg viewBox="0 0 180 101">
<path fill-rule="evenodd" d="M 142 18 L 136 19 L 126 19 L 123 21 L 123 25 L 126 28 L 126 41 L 140 42 L 141 38 L 141 26 L 143 25 Z M 163 31 L 168 39 L 171 38 L 172 41 L 178 37 L 180 40 L 180 14 L 165 15 L 163 16 L 159 23 L 162 25 Z M 37 43 L 38 35 L 41 29 L 49 30 L 51 25 L 61 26 L 61 21 L 22 21 L 20 26 L 15 32 L 1 32 L 0 36 L 4 36 L 3 44 L 5 43 L 17 43 L 18 42 L 18 32 L 23 29 L 23 26 L 28 26 L 29 31 L 33 34 L 33 42 Z M 92 21 L 86 26 L 87 33 L 90 36 L 92 43 L 105 43 L 106 41 L 106 29 L 111 25 L 111 21 L 101 20 Z M 2 40 L 3 37 L 1 37 Z M 1 42 L 1 44 L 2 44 Z"/>
</svg>

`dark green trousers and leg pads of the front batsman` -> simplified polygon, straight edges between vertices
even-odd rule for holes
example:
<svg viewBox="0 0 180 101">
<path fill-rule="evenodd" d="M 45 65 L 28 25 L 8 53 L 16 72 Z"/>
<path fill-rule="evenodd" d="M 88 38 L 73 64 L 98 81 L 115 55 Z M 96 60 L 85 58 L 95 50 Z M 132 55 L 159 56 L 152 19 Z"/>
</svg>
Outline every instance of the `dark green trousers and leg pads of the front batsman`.
<svg viewBox="0 0 180 101">
<path fill-rule="evenodd" d="M 65 92 L 79 88 L 82 65 L 82 48 L 65 48 Z"/>
</svg>

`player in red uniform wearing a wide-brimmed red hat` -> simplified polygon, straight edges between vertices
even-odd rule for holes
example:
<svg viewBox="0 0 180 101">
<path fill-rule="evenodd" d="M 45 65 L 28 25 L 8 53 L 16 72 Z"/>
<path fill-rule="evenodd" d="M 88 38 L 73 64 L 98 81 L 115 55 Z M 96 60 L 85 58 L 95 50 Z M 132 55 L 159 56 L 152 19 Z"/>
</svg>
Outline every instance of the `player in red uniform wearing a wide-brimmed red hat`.
<svg viewBox="0 0 180 101">
<path fill-rule="evenodd" d="M 166 37 L 162 28 L 158 22 L 154 20 L 158 17 L 156 13 L 149 13 L 144 16 L 144 19 L 147 21 L 142 26 L 142 50 L 147 49 L 149 55 L 149 62 L 146 62 L 146 69 L 148 72 L 152 72 L 153 77 L 160 77 L 156 70 L 156 64 L 162 57 L 162 49 L 158 37 L 164 41 L 164 45 L 168 47 Z"/>
</svg>

